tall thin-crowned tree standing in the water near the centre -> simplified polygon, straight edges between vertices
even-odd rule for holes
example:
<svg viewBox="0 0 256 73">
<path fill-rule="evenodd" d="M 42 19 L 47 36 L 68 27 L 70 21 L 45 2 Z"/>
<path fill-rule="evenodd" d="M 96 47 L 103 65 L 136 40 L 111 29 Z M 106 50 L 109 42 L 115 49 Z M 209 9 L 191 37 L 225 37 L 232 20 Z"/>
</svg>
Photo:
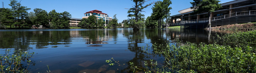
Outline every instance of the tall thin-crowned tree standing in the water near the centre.
<svg viewBox="0 0 256 73">
<path fill-rule="evenodd" d="M 147 1 L 145 1 L 145 0 L 132 0 L 132 1 L 135 3 L 135 5 L 133 5 L 133 7 L 128 10 L 128 13 L 129 13 L 128 17 L 130 17 L 130 18 L 135 20 L 135 22 L 133 22 L 133 24 L 132 24 L 132 27 L 133 27 L 134 31 L 138 31 L 139 28 L 140 28 L 139 23 L 137 23 L 138 22 L 138 18 L 139 18 L 139 13 L 145 12 L 145 11 L 142 11 L 142 10 L 144 8 L 150 6 L 154 2 L 152 2 L 152 3 L 148 4 L 148 5 L 142 6 Z M 148 0 L 148 1 L 150 1 L 150 0 Z M 142 15 L 142 14 L 140 14 L 140 15 Z"/>
</svg>

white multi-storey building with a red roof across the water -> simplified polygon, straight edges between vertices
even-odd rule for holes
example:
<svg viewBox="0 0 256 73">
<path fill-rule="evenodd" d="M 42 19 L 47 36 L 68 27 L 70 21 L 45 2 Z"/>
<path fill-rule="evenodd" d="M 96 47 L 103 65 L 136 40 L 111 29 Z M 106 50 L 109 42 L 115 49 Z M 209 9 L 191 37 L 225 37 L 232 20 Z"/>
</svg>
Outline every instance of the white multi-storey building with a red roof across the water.
<svg viewBox="0 0 256 73">
<path fill-rule="evenodd" d="M 106 13 L 102 13 L 102 11 L 98 11 L 98 10 L 93 10 L 93 11 L 89 11 L 85 13 L 85 16 L 82 18 L 88 18 L 90 15 L 95 15 L 97 19 L 103 19 L 105 21 L 105 25 L 107 26 L 108 22 L 110 22 L 112 20 L 111 17 L 108 16 L 108 14 Z"/>
</svg>

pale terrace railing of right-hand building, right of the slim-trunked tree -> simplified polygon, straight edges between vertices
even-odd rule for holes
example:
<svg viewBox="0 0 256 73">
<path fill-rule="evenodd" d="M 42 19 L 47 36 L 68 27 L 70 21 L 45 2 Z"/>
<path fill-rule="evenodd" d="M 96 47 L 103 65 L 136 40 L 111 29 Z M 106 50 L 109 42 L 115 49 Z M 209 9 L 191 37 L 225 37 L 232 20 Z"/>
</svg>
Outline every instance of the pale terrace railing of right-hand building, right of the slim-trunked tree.
<svg viewBox="0 0 256 73">
<path fill-rule="evenodd" d="M 221 19 L 225 19 L 225 18 L 230 18 L 230 17 L 234 17 L 234 16 L 254 15 L 254 14 L 256 14 L 256 10 L 254 10 L 254 11 L 235 12 L 235 13 L 225 14 L 225 15 L 222 15 L 222 16 L 213 17 L 212 21 L 221 20 Z"/>
</svg>

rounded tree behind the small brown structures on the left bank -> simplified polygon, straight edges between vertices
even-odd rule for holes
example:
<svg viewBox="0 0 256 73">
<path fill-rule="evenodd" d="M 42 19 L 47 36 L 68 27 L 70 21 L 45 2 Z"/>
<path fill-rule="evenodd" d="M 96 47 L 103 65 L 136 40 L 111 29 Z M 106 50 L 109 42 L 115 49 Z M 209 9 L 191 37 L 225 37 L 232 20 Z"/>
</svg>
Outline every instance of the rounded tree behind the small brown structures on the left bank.
<svg viewBox="0 0 256 73">
<path fill-rule="evenodd" d="M 49 23 L 49 21 L 48 21 L 48 13 L 45 11 L 45 10 L 43 10 L 43 9 L 40 9 L 40 8 L 35 8 L 34 9 L 34 24 L 36 24 L 37 25 L 37 27 L 39 26 L 39 25 L 43 25 L 44 27 L 48 27 L 47 25 L 48 25 L 48 23 Z"/>
</svg>

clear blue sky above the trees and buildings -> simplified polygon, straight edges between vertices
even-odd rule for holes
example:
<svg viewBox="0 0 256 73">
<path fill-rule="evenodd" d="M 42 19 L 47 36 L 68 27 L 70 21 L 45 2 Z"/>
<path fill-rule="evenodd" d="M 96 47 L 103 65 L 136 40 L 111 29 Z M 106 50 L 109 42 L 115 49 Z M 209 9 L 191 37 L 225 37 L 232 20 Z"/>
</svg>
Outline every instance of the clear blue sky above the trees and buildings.
<svg viewBox="0 0 256 73">
<path fill-rule="evenodd" d="M 10 0 L 0 0 L 1 2 L 4 2 L 5 8 L 11 8 L 8 4 L 10 4 Z M 21 0 L 17 0 L 18 2 Z M 151 2 L 156 2 L 159 0 L 150 0 L 146 2 L 145 4 L 150 4 Z M 162 1 L 162 0 L 160 0 Z M 193 0 L 171 0 L 172 4 L 170 7 L 172 9 L 170 10 L 171 16 L 180 14 L 178 11 L 182 9 L 186 9 L 191 7 L 192 5 L 190 2 Z M 233 0 L 219 0 L 220 3 L 225 3 Z M 99 10 L 102 11 L 102 13 L 108 14 L 108 16 L 113 18 L 114 14 L 117 14 L 118 23 L 122 22 L 125 19 L 128 19 L 127 11 L 128 9 L 125 8 L 131 8 L 132 5 L 134 5 L 133 1 L 131 0 L 22 0 L 21 1 L 22 6 L 26 6 L 28 8 L 31 8 L 28 12 L 33 12 L 33 9 L 35 8 L 41 8 L 46 10 L 47 12 L 52 11 L 55 9 L 55 11 L 61 13 L 61 12 L 69 12 L 72 16 L 72 18 L 82 18 L 82 16 L 85 16 L 84 13 L 92 11 L 92 10 Z M 2 8 L 2 3 L 0 3 L 0 6 Z M 152 13 L 152 7 L 148 6 L 147 8 L 143 9 L 142 14 L 145 15 L 145 18 L 151 15 Z"/>
</svg>

